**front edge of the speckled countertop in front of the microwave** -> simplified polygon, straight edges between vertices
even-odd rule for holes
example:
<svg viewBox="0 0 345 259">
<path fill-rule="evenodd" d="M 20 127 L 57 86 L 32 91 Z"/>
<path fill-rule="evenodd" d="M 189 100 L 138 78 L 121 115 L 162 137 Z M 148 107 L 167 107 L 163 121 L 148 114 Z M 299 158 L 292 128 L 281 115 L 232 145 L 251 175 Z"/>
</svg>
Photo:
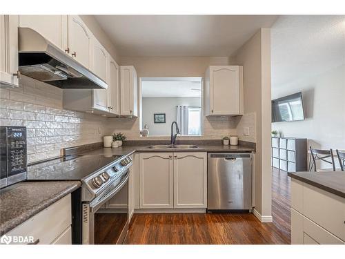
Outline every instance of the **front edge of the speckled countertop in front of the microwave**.
<svg viewBox="0 0 345 259">
<path fill-rule="evenodd" d="M 22 215 L 19 215 L 16 218 L 13 218 L 12 220 L 6 222 L 5 227 L 0 229 L 0 236 L 3 236 L 3 234 L 6 234 L 9 231 L 13 230 L 14 228 L 18 227 L 20 224 L 22 224 L 23 222 L 26 222 L 27 220 L 32 218 L 34 215 L 37 215 L 44 209 L 48 208 L 50 205 L 57 202 L 58 200 L 61 200 L 66 195 L 77 190 L 80 186 L 81 186 L 81 182 L 79 184 L 76 183 L 73 186 L 70 186 L 68 189 L 64 190 L 63 192 L 52 196 L 52 198 L 48 198 L 44 200 L 43 202 L 33 207 L 32 209 L 28 209 L 26 213 L 23 213 Z"/>
</svg>

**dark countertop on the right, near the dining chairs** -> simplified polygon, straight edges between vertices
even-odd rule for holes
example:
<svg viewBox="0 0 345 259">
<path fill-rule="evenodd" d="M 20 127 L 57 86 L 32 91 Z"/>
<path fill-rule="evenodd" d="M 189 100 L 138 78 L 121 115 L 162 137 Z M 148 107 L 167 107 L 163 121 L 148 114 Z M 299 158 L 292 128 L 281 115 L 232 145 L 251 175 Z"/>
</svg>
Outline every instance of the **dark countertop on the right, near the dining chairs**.
<svg viewBox="0 0 345 259">
<path fill-rule="evenodd" d="M 288 176 L 345 198 L 345 172 L 295 172 Z"/>
</svg>

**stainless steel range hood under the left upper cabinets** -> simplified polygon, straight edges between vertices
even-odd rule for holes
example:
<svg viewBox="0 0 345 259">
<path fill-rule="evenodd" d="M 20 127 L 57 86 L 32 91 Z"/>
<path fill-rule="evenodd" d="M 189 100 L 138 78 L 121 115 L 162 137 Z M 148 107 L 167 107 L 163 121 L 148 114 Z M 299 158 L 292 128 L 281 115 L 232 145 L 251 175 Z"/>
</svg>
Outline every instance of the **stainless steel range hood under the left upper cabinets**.
<svg viewBox="0 0 345 259">
<path fill-rule="evenodd" d="M 21 74 L 63 89 L 106 89 L 108 84 L 30 28 L 19 28 Z"/>
</svg>

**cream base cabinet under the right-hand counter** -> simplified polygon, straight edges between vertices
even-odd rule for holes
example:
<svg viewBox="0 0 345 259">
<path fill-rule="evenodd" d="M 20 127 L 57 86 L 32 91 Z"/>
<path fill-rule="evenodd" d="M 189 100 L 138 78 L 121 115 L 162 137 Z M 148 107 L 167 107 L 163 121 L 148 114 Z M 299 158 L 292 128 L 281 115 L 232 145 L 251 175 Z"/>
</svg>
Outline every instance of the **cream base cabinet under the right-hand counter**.
<svg viewBox="0 0 345 259">
<path fill-rule="evenodd" d="M 291 181 L 291 243 L 345 244 L 345 198 Z"/>
</svg>

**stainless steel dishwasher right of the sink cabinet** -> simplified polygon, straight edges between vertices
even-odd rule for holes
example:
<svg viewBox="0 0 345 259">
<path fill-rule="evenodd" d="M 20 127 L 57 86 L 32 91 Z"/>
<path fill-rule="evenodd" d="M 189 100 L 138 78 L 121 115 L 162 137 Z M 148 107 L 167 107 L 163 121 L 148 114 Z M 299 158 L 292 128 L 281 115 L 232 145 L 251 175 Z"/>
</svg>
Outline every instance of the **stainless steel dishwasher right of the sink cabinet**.
<svg viewBox="0 0 345 259">
<path fill-rule="evenodd" d="M 208 153 L 207 209 L 252 209 L 252 154 Z"/>
</svg>

